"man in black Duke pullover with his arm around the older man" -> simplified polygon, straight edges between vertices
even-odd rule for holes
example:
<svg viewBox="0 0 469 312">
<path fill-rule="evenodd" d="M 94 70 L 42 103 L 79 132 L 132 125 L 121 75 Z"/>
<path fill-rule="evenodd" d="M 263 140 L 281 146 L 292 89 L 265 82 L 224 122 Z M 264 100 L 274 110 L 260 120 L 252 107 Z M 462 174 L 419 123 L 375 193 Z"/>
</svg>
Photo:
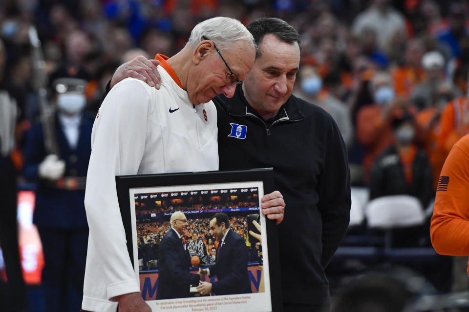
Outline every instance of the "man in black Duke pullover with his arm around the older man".
<svg viewBox="0 0 469 312">
<path fill-rule="evenodd" d="M 292 95 L 298 32 L 276 18 L 254 20 L 247 28 L 258 46 L 254 67 L 233 98 L 213 98 L 219 169 L 274 168 L 275 188 L 288 203 L 278 226 L 283 310 L 322 312 L 329 305 L 324 269 L 350 220 L 345 145 L 329 114 Z M 132 71 L 139 67 L 136 59 L 128 64 L 116 71 L 114 83 L 142 75 L 148 81 L 156 74 L 146 63 L 139 73 Z M 275 209 L 263 213 L 283 218 Z M 294 261 L 292 254 L 298 255 Z"/>
</svg>

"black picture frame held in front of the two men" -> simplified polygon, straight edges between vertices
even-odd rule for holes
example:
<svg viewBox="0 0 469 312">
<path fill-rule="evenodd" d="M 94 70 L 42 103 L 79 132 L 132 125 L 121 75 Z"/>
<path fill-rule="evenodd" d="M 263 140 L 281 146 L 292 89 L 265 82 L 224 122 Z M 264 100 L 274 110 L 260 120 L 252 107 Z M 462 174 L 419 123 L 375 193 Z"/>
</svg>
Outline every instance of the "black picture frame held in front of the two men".
<svg viewBox="0 0 469 312">
<path fill-rule="evenodd" d="M 138 188 L 151 188 L 151 187 L 172 187 L 184 185 L 204 185 L 204 184 L 223 184 L 223 183 L 249 183 L 253 181 L 261 182 L 263 185 L 263 195 L 269 194 L 274 191 L 273 185 L 273 169 L 261 168 L 241 171 L 210 171 L 210 172 L 193 172 L 193 173 L 174 173 L 174 174 L 152 174 L 152 175 L 132 175 L 132 176 L 116 176 L 117 197 L 119 208 L 124 225 L 128 254 L 132 262 L 132 266 L 138 272 L 138 264 L 134 263 L 134 247 L 136 244 L 137 233 L 132 231 L 132 209 L 130 207 L 130 193 L 132 189 Z M 259 206 L 260 197 L 258 196 Z M 135 216 L 134 216 L 135 220 Z M 135 221 L 134 221 L 135 222 Z M 269 280 L 270 280 L 270 300 L 271 311 L 282 312 L 282 292 L 279 274 L 279 254 L 278 254 L 278 236 L 277 224 L 275 220 L 270 220 L 267 217 L 263 218 L 265 224 L 266 244 L 262 242 L 262 247 L 268 248 L 268 259 L 264 259 L 264 263 L 268 261 L 269 267 Z M 264 237 L 264 236 L 263 236 Z M 262 249 L 261 249 L 262 250 Z M 265 279 L 265 276 L 264 276 Z M 267 288 L 267 287 L 266 287 Z M 215 295 L 216 296 L 216 295 Z M 202 297 L 201 297 L 202 298 Z M 171 308 L 172 309 L 172 308 Z M 215 310 L 213 308 L 205 309 Z M 225 311 L 223 307 L 218 309 Z M 174 310 L 172 310 L 174 311 Z M 186 310 L 178 310 L 186 311 Z M 193 308 L 187 308 L 187 311 L 194 311 Z"/>
</svg>

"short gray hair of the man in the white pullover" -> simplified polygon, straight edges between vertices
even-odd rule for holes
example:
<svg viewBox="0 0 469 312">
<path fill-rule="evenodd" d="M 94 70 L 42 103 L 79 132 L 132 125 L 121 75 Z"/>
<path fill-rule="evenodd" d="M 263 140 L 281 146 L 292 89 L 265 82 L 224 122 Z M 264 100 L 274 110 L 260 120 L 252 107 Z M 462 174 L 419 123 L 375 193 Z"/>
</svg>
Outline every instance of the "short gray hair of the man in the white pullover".
<svg viewBox="0 0 469 312">
<path fill-rule="evenodd" d="M 202 36 L 212 40 L 220 50 L 238 40 L 245 40 L 256 47 L 253 35 L 239 20 L 231 18 L 216 17 L 198 23 L 192 29 L 188 44 L 195 48 L 205 40 Z"/>
</svg>

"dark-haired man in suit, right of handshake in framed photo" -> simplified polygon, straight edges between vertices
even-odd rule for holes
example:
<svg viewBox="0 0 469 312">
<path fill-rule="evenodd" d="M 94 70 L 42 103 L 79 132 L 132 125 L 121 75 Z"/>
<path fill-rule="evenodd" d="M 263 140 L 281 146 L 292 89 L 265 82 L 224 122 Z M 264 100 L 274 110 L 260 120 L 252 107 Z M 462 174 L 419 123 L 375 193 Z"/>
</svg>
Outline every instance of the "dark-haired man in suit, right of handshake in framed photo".
<svg viewBox="0 0 469 312">
<path fill-rule="evenodd" d="M 250 293 L 246 242 L 239 234 L 230 230 L 228 216 L 224 213 L 213 216 L 210 231 L 219 244 L 215 266 L 206 270 L 209 275 L 216 275 L 218 281 L 213 284 L 200 282 L 197 291 L 202 295 L 212 292 L 216 295 Z"/>
</svg>

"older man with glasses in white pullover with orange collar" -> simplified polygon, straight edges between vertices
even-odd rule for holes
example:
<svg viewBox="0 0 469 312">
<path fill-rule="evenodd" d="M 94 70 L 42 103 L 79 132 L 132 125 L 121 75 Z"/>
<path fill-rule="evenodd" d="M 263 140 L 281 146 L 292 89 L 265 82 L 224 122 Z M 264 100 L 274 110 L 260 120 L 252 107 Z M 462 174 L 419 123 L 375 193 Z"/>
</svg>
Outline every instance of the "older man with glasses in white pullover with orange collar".
<svg viewBox="0 0 469 312">
<path fill-rule="evenodd" d="M 221 54 L 223 53 L 223 56 Z M 115 176 L 218 169 L 216 111 L 253 67 L 255 44 L 237 20 L 194 27 L 188 44 L 157 55 L 159 90 L 127 78 L 107 95 L 92 132 L 85 208 L 89 224 L 82 309 L 149 312 L 128 256 Z"/>
</svg>

